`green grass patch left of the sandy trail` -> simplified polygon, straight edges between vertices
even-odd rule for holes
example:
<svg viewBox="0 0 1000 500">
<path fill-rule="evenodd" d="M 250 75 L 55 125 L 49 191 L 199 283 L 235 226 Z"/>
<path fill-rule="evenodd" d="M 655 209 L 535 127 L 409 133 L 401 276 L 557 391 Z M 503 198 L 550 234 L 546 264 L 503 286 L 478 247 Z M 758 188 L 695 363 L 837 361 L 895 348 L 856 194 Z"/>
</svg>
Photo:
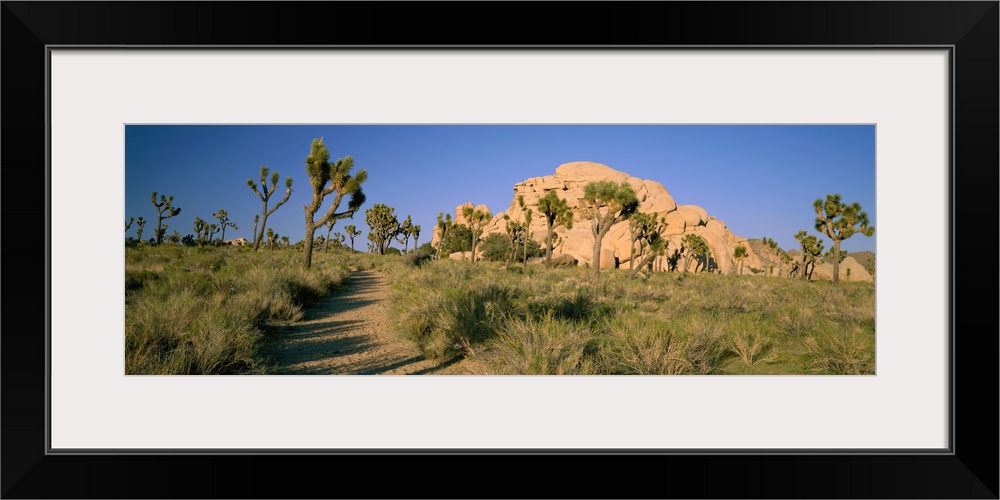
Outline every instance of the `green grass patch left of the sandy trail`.
<svg viewBox="0 0 1000 500">
<path fill-rule="evenodd" d="M 267 373 L 264 333 L 300 319 L 354 262 L 317 252 L 140 246 L 125 250 L 127 374 Z"/>
</svg>

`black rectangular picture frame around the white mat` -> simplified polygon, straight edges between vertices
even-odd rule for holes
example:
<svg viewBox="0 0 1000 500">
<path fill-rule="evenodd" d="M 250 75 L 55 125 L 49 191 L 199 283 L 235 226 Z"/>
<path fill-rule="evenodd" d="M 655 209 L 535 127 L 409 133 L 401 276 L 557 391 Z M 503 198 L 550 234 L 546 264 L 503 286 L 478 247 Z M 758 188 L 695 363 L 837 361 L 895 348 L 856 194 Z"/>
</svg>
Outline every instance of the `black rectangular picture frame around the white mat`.
<svg viewBox="0 0 1000 500">
<path fill-rule="evenodd" d="M 980 255 L 998 207 L 997 1 L 2 3 L 4 498 L 998 498 L 997 274 Z M 951 47 L 950 453 L 49 454 L 53 45 Z M 372 470 L 386 479 L 358 480 Z"/>
</svg>

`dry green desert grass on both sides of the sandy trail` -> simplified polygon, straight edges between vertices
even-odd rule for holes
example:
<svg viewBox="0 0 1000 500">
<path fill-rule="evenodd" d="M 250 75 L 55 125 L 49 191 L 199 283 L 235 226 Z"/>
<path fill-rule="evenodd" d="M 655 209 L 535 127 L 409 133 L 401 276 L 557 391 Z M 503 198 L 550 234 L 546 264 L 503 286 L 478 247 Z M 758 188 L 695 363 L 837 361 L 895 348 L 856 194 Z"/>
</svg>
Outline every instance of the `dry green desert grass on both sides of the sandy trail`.
<svg viewBox="0 0 1000 500">
<path fill-rule="evenodd" d="M 427 358 L 482 374 L 873 374 L 875 287 L 762 276 L 416 262 L 341 249 L 127 248 L 128 374 L 270 373 L 272 327 L 352 270 L 390 278 L 391 320 Z"/>
</svg>

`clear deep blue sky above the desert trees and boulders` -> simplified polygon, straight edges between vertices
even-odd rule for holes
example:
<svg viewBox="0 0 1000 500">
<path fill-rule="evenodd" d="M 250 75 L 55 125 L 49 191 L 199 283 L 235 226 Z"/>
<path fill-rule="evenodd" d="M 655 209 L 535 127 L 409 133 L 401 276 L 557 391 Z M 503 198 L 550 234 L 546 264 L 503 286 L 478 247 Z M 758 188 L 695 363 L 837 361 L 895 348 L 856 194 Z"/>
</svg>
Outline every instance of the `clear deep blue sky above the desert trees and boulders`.
<svg viewBox="0 0 1000 500">
<path fill-rule="evenodd" d="M 400 221 L 412 215 L 420 241 L 429 242 L 438 212 L 471 201 L 495 214 L 510 205 L 514 184 L 571 161 L 660 182 L 678 204 L 699 205 L 736 235 L 768 236 L 786 250 L 798 247 L 796 231 L 818 234 L 812 203 L 828 193 L 859 202 L 876 227 L 874 237 L 854 236 L 844 249 L 874 251 L 878 237 L 875 127 L 867 125 L 128 125 L 125 215 L 151 220 L 143 237 L 153 236 L 149 198 L 157 191 L 182 209 L 165 221 L 167 234 L 193 234 L 195 217 L 214 222 L 222 208 L 239 226 L 226 238 L 252 240 L 262 204 L 246 180 L 266 165 L 281 174 L 271 206 L 284 195 L 284 178 L 294 179 L 268 227 L 299 241 L 311 198 L 304 160 L 317 137 L 331 159 L 349 155 L 355 171 L 368 170 L 367 202 L 334 228 L 363 231 L 359 250 L 367 248 L 364 210 L 376 203 L 394 207 Z"/>
</svg>

